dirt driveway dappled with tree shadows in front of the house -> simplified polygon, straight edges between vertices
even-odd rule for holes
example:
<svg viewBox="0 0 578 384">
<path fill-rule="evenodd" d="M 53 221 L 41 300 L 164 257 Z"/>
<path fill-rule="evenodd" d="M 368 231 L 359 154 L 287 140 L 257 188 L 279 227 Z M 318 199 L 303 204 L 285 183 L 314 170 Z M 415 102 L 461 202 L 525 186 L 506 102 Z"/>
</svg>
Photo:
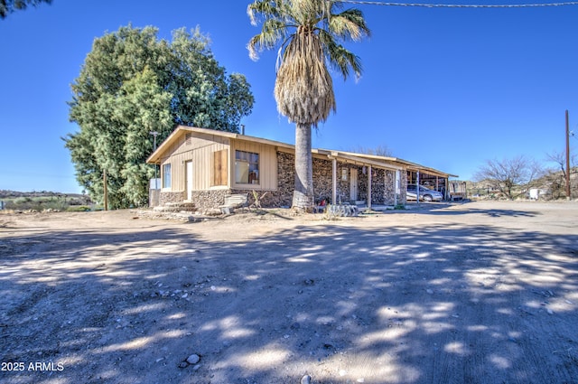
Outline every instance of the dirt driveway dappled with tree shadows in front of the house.
<svg viewBox="0 0 578 384">
<path fill-rule="evenodd" d="M 0 382 L 578 383 L 578 203 L 423 207 L 0 215 Z"/>
</svg>

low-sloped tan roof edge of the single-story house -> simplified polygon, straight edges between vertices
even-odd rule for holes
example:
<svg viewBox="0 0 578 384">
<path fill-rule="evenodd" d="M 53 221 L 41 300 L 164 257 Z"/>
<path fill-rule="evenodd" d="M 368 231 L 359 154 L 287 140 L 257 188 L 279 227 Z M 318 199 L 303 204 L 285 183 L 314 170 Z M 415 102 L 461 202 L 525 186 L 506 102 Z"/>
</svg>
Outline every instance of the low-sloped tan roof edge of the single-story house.
<svg viewBox="0 0 578 384">
<path fill-rule="evenodd" d="M 154 151 L 152 155 L 150 155 L 146 159 L 146 163 L 149 164 L 159 164 L 161 163 L 161 158 L 163 153 L 172 145 L 174 144 L 180 136 L 184 135 L 187 132 L 193 133 L 200 133 L 205 135 L 212 135 L 212 136 L 221 136 L 221 137 L 228 137 L 235 140 L 245 140 L 250 141 L 253 143 L 260 143 L 265 145 L 275 145 L 280 148 L 284 148 L 289 151 L 294 151 L 295 146 L 290 145 L 287 143 L 269 140 L 262 137 L 256 136 L 247 136 L 236 134 L 232 132 L 225 132 L 225 131 L 218 131 L 215 129 L 208 129 L 208 128 L 199 128 L 195 126 L 177 126 L 172 134 L 163 141 L 161 145 Z M 362 165 L 372 165 L 377 166 L 380 168 L 387 168 L 393 170 L 401 170 L 403 168 L 407 168 L 410 171 L 419 171 L 422 173 L 430 173 L 435 176 L 441 177 L 458 177 L 457 175 L 451 173 L 443 173 L 442 171 L 433 169 L 431 167 L 427 167 L 421 164 L 416 164 L 409 162 L 404 159 L 400 159 L 398 157 L 389 157 L 389 156 L 379 156 L 379 155 L 366 155 L 366 154 L 359 154 L 355 152 L 348 152 L 348 151 L 336 151 L 331 149 L 320 149 L 314 148 L 312 149 L 312 154 L 314 155 L 322 155 L 327 156 L 329 158 L 336 158 L 340 161 L 344 161 L 347 163 L 352 164 L 362 164 Z"/>
</svg>

